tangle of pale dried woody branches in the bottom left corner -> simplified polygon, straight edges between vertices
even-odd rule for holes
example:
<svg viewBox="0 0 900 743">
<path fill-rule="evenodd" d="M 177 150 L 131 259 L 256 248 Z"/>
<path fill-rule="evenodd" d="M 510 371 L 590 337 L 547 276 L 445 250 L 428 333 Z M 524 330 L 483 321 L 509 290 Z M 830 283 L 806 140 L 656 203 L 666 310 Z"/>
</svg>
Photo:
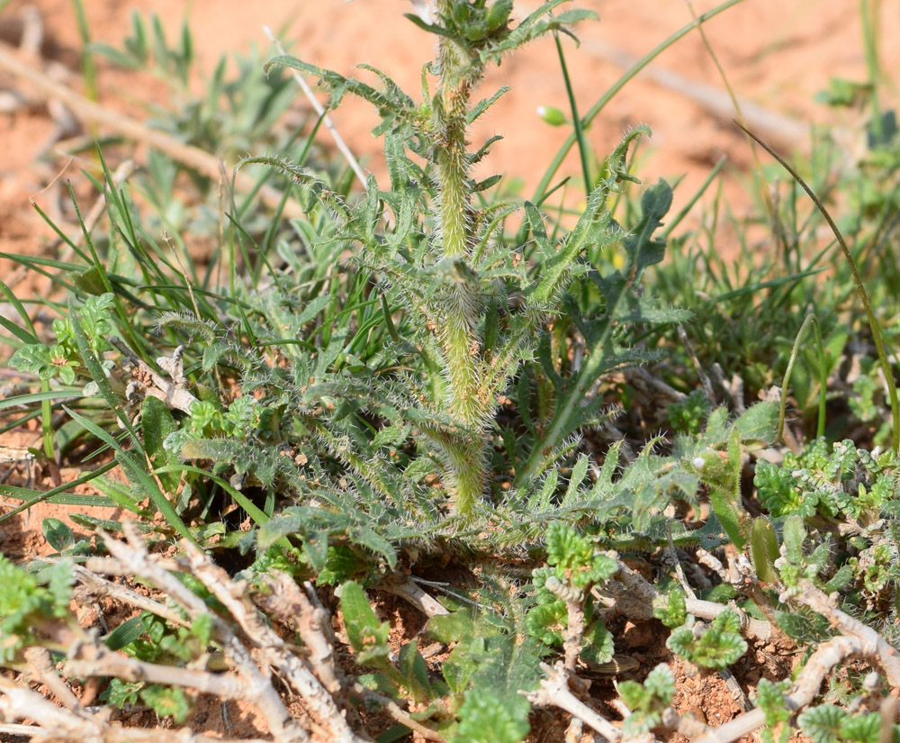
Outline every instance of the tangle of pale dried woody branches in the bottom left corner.
<svg viewBox="0 0 900 743">
<path fill-rule="evenodd" d="M 67 676 L 114 677 L 126 681 L 146 681 L 151 684 L 167 684 L 209 693 L 221 700 L 253 703 L 266 720 L 272 738 L 277 743 L 306 743 L 325 737 L 336 743 L 363 743 L 347 721 L 347 710 L 339 703 L 353 684 L 340 673 L 334 661 L 333 638 L 330 636 L 329 618 L 321 607 L 311 586 L 304 593 L 293 579 L 282 573 L 272 575 L 272 592 L 261 603 L 274 609 L 275 614 L 290 616 L 293 626 L 302 637 L 309 657 L 297 655 L 297 648 L 284 642 L 250 602 L 246 582 L 232 581 L 220 567 L 215 566 L 201 550 L 183 545 L 187 559 L 173 562 L 170 559 L 150 555 L 137 531 L 125 524 L 127 541 L 121 542 L 101 533 L 112 558 L 94 559 L 90 567 L 97 572 L 111 575 L 132 575 L 154 584 L 186 614 L 190 621 L 208 615 L 209 608 L 200 597 L 191 592 L 170 572 L 173 567 L 190 572 L 199 579 L 215 597 L 224 604 L 231 618 L 242 632 L 241 637 L 229 623 L 212 615 L 213 637 L 224 650 L 229 666 L 228 673 L 211 673 L 201 664 L 194 667 L 175 667 L 140 661 L 113 652 L 98 641 L 94 633 L 80 630 L 77 625 L 61 624 L 59 638 L 52 641 L 68 648 L 63 674 Z M 76 579 L 85 589 L 94 593 L 114 594 L 117 599 L 157 613 L 166 619 L 177 617 L 177 612 L 162 603 L 130 592 L 105 581 L 85 567 L 76 568 Z M 184 624 L 184 620 L 179 620 Z M 65 637 L 62 637 L 65 635 Z M 89 714 L 79 707 L 75 695 L 59 677 L 43 648 L 29 650 L 29 675 L 44 684 L 64 707 L 60 708 L 39 693 L 23 684 L 0 679 L 0 716 L 5 721 L 40 720 L 37 726 L 24 726 L 35 736 L 56 740 L 134 741 L 150 740 L 159 743 L 160 733 L 142 733 L 139 730 L 114 727 L 107 717 Z M 306 710 L 318 726 L 315 738 L 293 718 L 282 701 L 282 695 L 273 684 L 273 671 L 284 683 L 290 685 L 305 702 Z M 393 705 L 396 707 L 396 705 Z M 49 708 L 52 713 L 47 711 Z M 389 710 L 394 717 L 407 723 L 409 718 L 400 708 Z M 409 720 L 414 722 L 414 720 Z M 23 726 L 16 726 L 17 729 Z M 414 727 L 421 727 L 418 724 Z M 433 733 L 428 729 L 424 729 Z M 189 729 L 166 731 L 163 740 L 205 741 L 207 738 L 193 734 Z"/>
</svg>

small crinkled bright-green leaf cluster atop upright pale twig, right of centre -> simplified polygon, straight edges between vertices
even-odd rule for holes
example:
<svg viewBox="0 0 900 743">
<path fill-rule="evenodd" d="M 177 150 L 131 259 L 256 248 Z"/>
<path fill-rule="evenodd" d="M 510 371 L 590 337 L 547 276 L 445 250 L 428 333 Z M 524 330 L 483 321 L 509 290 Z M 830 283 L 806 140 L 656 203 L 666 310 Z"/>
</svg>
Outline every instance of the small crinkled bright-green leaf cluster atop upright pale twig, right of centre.
<svg viewBox="0 0 900 743">
<path fill-rule="evenodd" d="M 547 565 L 533 571 L 537 605 L 526 618 L 528 634 L 559 648 L 568 625 L 570 605 L 584 612 L 580 656 L 591 663 L 613 657 L 613 639 L 599 617 L 590 588 L 608 580 L 617 560 L 597 551 L 589 539 L 561 522 L 547 529 Z"/>
</svg>

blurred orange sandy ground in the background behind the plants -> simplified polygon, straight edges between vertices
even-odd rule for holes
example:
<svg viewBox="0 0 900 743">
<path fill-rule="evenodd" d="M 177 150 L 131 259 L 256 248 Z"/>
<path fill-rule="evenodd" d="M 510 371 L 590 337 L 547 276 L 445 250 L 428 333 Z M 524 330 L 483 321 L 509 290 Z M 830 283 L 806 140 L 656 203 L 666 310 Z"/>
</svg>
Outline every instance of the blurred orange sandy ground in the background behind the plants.
<svg viewBox="0 0 900 743">
<path fill-rule="evenodd" d="M 582 112 L 617 81 L 629 60 L 642 57 L 691 23 L 689 5 L 680 0 L 585 0 L 581 5 L 599 14 L 598 21 L 579 27 L 581 46 L 564 41 Z M 714 5 L 703 0 L 694 8 L 702 13 Z M 882 6 L 881 54 L 889 71 L 900 63 L 900 45 L 893 42 L 900 38 L 900 3 L 887 0 Z M 14 0 L 0 21 L 11 23 L 24 7 L 21 0 Z M 71 3 L 40 0 L 36 7 L 54 56 L 67 63 L 70 84 L 78 87 L 80 42 Z M 536 3 L 531 0 L 522 7 L 530 9 Z M 246 50 L 251 44 L 268 49 L 264 24 L 283 30 L 284 42 L 304 59 L 346 74 L 357 64 L 373 64 L 410 91 L 420 89 L 419 70 L 433 51 L 428 34 L 402 17 L 412 9 L 409 0 L 85 0 L 85 9 L 94 41 L 112 44 L 121 43 L 132 11 L 159 14 L 173 36 L 186 18 L 195 31 L 198 58 L 205 70 L 211 70 L 223 53 Z M 824 89 L 830 77 L 865 77 L 860 18 L 856 5 L 847 0 L 745 0 L 707 22 L 705 30 L 754 128 L 779 149 L 800 156 L 808 149 L 811 125 L 840 122 L 842 115 L 816 104 L 816 92 Z M 369 73 L 361 74 L 371 79 Z M 166 95 L 155 81 L 135 86 L 133 76 L 103 66 L 99 79 L 103 104 L 112 110 L 134 113 L 137 107 L 139 115 L 139 101 L 150 98 L 158 103 Z M 21 85 L 9 77 L 0 77 L 0 84 Z M 500 85 L 512 89 L 482 119 L 473 141 L 495 133 L 505 140 L 495 145 L 478 175 L 499 172 L 521 178 L 527 195 L 569 133 L 567 127 L 551 127 L 536 114 L 539 105 L 568 110 L 553 42 L 537 41 L 506 59 L 491 71 L 482 91 L 488 95 Z M 298 105 L 303 105 L 299 95 Z M 725 179 L 725 192 L 740 213 L 750 198 L 739 182 L 750 158 L 746 140 L 731 123 L 733 116 L 713 60 L 698 33 L 690 32 L 608 104 L 589 136 L 602 154 L 615 146 L 623 131 L 638 123 L 649 124 L 653 140 L 642 150 L 638 172 L 647 182 L 684 177 L 675 209 L 688 201 L 716 161 L 727 156 L 738 176 Z M 379 142 L 370 133 L 376 119 L 368 104 L 348 102 L 334 119 L 367 167 L 383 177 Z M 50 124 L 39 110 L 2 116 L 0 126 L 0 208 L 4 214 L 15 213 L 14 222 L 24 221 L 18 229 L 9 222 L 0 226 L 0 249 L 7 249 L 6 241 L 14 239 L 25 241 L 16 249 L 33 252 L 40 247 L 33 238 L 47 230 L 27 202 L 36 195 L 40 203 L 45 183 L 35 177 L 33 162 Z M 65 165 L 62 159 L 49 159 L 57 170 Z M 578 188 L 581 181 L 574 154 L 562 172 L 574 176 L 572 187 Z M 24 229 L 26 225 L 29 229 Z"/>
</svg>

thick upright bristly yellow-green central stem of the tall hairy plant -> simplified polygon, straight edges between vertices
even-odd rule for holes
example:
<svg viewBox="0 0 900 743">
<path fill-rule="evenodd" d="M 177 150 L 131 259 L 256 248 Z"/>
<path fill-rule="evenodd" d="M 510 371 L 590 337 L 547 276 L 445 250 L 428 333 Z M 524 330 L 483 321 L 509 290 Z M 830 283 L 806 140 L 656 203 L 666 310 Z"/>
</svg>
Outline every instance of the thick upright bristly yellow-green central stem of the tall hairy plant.
<svg viewBox="0 0 900 743">
<path fill-rule="evenodd" d="M 450 15 L 453 5 L 454 0 L 437 0 L 438 14 Z M 457 41 L 441 37 L 438 47 L 440 87 L 434 113 L 434 161 L 437 165 L 439 247 L 447 262 L 464 261 L 473 246 L 466 130 L 469 98 L 482 70 L 482 63 L 466 53 Z M 451 270 L 456 273 L 455 267 Z M 477 284 L 454 281 L 440 301 L 445 323 L 439 329 L 439 338 L 450 390 L 449 412 L 464 427 L 481 430 L 486 411 L 478 394 L 482 338 L 478 329 Z M 473 503 L 481 497 L 484 488 L 484 452 L 483 443 L 477 436 L 473 441 L 459 443 L 460 451 L 456 453 L 461 461 L 454 467 L 455 482 L 452 485 L 455 511 L 466 515 L 472 511 Z"/>
</svg>

